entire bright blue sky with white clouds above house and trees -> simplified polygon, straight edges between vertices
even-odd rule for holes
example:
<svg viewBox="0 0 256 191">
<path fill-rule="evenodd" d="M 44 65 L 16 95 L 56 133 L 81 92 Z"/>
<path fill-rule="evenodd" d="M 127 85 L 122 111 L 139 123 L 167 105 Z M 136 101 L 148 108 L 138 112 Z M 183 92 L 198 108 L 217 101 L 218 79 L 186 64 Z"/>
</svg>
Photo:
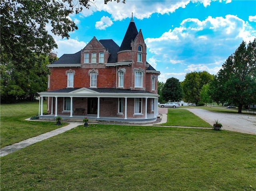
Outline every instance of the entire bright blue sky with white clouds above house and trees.
<svg viewBox="0 0 256 191">
<path fill-rule="evenodd" d="M 74 1 L 76 2 L 76 1 Z M 255 0 L 94 0 L 89 10 L 70 15 L 78 30 L 69 39 L 54 36 L 58 57 L 76 53 L 95 36 L 119 46 L 133 12 L 147 45 L 147 61 L 161 75 L 183 81 L 186 73 L 216 74 L 242 41 L 256 38 Z"/>
</svg>

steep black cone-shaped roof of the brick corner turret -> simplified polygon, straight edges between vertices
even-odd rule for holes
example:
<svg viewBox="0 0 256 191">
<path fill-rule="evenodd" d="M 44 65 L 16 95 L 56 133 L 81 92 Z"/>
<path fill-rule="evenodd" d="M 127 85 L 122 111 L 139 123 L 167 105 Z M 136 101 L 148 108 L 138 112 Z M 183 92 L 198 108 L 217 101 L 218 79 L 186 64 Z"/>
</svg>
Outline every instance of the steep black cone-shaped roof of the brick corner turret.
<svg viewBox="0 0 256 191">
<path fill-rule="evenodd" d="M 135 23 L 131 20 L 131 22 L 128 26 L 128 29 L 124 35 L 124 39 L 122 41 L 119 51 L 131 50 L 132 49 L 131 42 L 132 42 L 132 40 L 135 39 L 137 34 L 138 34 L 138 30 L 135 26 Z"/>
</svg>

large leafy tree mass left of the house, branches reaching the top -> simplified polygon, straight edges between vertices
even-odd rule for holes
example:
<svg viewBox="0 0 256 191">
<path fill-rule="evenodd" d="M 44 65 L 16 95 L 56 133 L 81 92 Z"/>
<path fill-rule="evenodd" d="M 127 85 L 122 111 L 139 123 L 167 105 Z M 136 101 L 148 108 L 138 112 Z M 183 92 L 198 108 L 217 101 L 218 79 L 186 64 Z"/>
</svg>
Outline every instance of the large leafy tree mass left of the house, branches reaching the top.
<svg viewBox="0 0 256 191">
<path fill-rule="evenodd" d="M 105 4 L 109 1 L 104 0 Z M 68 16 L 82 11 L 83 7 L 90 8 L 91 4 L 89 0 L 0 1 L 1 98 L 14 96 L 12 99 L 16 100 L 26 95 L 28 89 L 30 93 L 38 91 L 38 85 L 48 74 L 40 68 L 40 59 L 47 59 L 50 51 L 57 48 L 46 25 L 51 26 L 54 35 L 68 39 L 69 32 L 78 29 Z M 37 85 L 33 84 L 35 77 L 42 77 Z"/>
</svg>

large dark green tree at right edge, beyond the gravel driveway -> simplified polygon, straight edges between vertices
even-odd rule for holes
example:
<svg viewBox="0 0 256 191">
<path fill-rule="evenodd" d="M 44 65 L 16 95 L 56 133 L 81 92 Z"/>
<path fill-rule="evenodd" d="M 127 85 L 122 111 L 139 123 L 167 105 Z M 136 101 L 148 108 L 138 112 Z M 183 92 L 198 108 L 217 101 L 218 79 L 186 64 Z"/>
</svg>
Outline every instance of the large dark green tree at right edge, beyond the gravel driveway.
<svg viewBox="0 0 256 191">
<path fill-rule="evenodd" d="M 238 105 L 238 113 L 243 105 L 256 102 L 256 39 L 247 46 L 242 41 L 222 65 L 211 87 L 221 92 L 219 99 Z"/>
</svg>

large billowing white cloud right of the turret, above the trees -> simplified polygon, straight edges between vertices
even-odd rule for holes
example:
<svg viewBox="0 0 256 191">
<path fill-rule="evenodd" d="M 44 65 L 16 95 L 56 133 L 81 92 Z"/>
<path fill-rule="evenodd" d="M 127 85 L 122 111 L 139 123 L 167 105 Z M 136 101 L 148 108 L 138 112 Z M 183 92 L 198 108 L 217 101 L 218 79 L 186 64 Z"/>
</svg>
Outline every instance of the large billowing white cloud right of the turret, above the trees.
<svg viewBox="0 0 256 191">
<path fill-rule="evenodd" d="M 187 18 L 180 27 L 163 33 L 158 38 L 146 38 L 147 49 L 158 67 L 176 64 L 179 71 L 202 71 L 216 74 L 222 63 L 234 53 L 242 40 L 256 37 L 256 31 L 244 20 L 234 15 L 205 20 Z M 215 64 L 212 68 L 210 65 Z M 184 68 L 188 65 L 188 68 Z M 159 69 L 158 69 L 159 70 Z"/>
</svg>

